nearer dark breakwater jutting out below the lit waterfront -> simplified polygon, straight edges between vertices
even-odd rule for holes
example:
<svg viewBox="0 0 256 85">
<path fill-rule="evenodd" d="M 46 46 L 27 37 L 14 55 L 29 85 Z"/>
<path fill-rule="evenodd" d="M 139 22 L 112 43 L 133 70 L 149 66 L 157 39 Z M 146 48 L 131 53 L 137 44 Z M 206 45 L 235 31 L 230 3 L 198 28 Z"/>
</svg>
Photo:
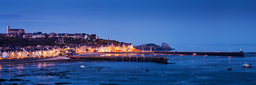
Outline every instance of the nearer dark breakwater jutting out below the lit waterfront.
<svg viewBox="0 0 256 85">
<path fill-rule="evenodd" d="M 77 57 L 77 56 L 75 56 Z M 101 60 L 101 61 L 153 61 L 157 63 L 167 64 L 167 57 L 160 56 L 104 56 L 104 57 L 96 57 L 96 56 L 81 56 L 79 59 L 86 60 Z"/>
</svg>

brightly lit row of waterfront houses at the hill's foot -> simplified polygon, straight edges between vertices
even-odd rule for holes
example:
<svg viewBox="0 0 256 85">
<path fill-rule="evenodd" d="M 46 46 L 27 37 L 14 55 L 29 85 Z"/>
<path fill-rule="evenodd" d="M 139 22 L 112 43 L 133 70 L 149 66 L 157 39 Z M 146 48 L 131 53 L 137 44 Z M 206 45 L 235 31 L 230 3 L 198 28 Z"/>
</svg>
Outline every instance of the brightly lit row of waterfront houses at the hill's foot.
<svg viewBox="0 0 256 85">
<path fill-rule="evenodd" d="M 76 44 L 74 46 L 36 46 L 36 47 L 7 47 L 0 49 L 0 58 L 29 58 L 41 56 L 58 56 L 58 54 L 68 53 L 72 49 L 75 53 L 94 52 L 130 52 L 136 51 L 131 43 L 108 43 L 106 46 L 87 46 L 86 44 Z"/>
</svg>

